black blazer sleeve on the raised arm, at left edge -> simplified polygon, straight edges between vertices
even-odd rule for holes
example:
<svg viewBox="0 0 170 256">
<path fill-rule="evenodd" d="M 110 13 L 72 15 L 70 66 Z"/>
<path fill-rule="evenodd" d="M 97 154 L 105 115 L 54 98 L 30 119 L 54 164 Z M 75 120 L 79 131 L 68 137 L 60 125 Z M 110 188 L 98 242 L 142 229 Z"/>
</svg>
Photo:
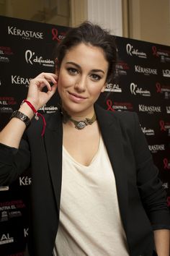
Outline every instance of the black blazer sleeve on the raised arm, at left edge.
<svg viewBox="0 0 170 256">
<path fill-rule="evenodd" d="M 30 166 L 30 150 L 27 140 L 22 139 L 19 149 L 0 143 L 0 185 L 14 182 Z"/>
</svg>

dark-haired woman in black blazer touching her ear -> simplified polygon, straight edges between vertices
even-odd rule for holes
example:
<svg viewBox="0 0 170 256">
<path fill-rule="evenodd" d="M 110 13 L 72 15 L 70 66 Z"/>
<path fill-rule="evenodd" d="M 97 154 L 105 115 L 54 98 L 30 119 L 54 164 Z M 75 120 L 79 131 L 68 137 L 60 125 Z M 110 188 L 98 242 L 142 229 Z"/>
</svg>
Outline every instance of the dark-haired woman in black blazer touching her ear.
<svg viewBox="0 0 170 256">
<path fill-rule="evenodd" d="M 166 197 L 138 117 L 95 104 L 116 56 L 106 30 L 90 22 L 71 29 L 55 74 L 31 80 L 1 131 L 1 184 L 32 166 L 31 256 L 169 255 Z M 61 111 L 45 116 L 42 137 L 42 121 L 32 117 L 56 88 Z"/>
</svg>

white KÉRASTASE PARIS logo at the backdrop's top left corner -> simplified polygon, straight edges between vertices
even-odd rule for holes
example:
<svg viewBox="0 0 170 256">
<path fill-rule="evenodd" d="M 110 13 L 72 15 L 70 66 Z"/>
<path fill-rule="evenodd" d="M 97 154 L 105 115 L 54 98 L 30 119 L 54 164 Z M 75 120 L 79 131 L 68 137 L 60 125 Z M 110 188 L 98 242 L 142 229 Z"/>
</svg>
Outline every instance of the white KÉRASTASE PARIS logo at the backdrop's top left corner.
<svg viewBox="0 0 170 256">
<path fill-rule="evenodd" d="M 20 36 L 22 39 L 43 39 L 42 32 L 35 32 L 32 30 L 20 30 L 17 27 L 8 26 L 8 34 L 14 36 Z"/>
</svg>

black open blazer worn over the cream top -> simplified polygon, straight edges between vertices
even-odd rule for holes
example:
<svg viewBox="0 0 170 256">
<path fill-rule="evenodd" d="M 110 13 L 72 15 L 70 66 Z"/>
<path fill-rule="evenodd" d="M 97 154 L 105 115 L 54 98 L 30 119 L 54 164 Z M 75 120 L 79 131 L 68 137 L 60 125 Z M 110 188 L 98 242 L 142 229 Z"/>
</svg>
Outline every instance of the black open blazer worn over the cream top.
<svg viewBox="0 0 170 256">
<path fill-rule="evenodd" d="M 115 174 L 130 256 L 156 255 L 153 230 L 170 229 L 169 210 L 138 116 L 133 112 L 105 111 L 99 106 L 95 106 L 95 111 Z M 45 120 L 44 137 L 40 136 L 41 121 L 32 120 L 19 150 L 0 147 L 0 184 L 11 183 L 30 163 L 32 166 L 28 245 L 31 256 L 52 255 L 60 212 L 61 114 L 46 115 Z"/>
</svg>

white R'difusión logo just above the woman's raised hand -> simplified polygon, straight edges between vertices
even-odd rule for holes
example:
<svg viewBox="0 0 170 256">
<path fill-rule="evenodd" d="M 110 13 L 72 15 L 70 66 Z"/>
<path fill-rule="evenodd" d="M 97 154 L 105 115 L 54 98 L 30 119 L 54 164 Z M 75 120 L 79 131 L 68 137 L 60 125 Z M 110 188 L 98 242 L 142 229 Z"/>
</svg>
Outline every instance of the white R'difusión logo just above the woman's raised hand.
<svg viewBox="0 0 170 256">
<path fill-rule="evenodd" d="M 27 50 L 25 51 L 25 60 L 27 61 L 27 64 L 40 64 L 45 67 L 53 67 L 54 61 L 51 59 L 43 59 L 42 56 L 36 56 L 34 51 Z"/>
</svg>

